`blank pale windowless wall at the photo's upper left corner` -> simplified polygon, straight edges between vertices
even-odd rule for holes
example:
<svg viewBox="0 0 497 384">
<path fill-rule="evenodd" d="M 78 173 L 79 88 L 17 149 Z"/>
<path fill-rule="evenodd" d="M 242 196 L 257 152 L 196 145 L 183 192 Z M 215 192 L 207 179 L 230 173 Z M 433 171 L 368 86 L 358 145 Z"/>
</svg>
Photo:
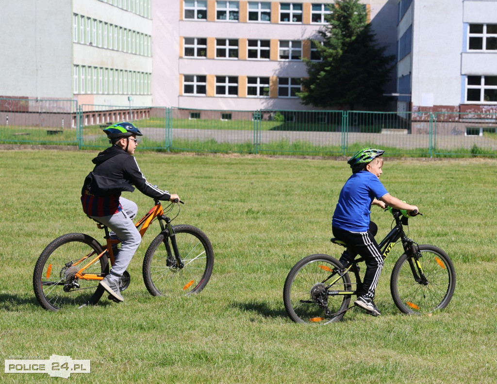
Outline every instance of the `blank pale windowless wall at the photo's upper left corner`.
<svg viewBox="0 0 497 384">
<path fill-rule="evenodd" d="M 47 4 L 1 2 L 0 95 L 72 99 L 71 1 Z"/>
</svg>

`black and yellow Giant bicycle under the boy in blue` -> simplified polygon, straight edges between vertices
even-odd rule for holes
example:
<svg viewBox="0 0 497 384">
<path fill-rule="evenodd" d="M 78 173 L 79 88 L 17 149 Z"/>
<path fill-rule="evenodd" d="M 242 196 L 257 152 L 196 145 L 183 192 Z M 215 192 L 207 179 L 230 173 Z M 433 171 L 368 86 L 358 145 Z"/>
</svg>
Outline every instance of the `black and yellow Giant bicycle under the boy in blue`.
<svg viewBox="0 0 497 384">
<path fill-rule="evenodd" d="M 442 249 L 434 245 L 418 245 L 407 237 L 404 227 L 409 226 L 409 217 L 405 211 L 392 208 L 389 211 L 394 217 L 394 226 L 379 244 L 383 257 L 388 256 L 399 240 L 404 247 L 390 279 L 395 305 L 406 314 L 431 313 L 445 308 L 456 286 L 451 259 Z M 417 211 L 412 212 L 411 216 L 417 214 Z M 331 241 L 347 246 L 334 238 Z M 334 257 L 314 254 L 295 264 L 283 289 L 285 309 L 291 319 L 321 324 L 341 320 L 345 312 L 354 307 L 349 306 L 350 299 L 357 296 L 362 284 L 357 266 L 361 261 L 364 259 L 356 256 L 347 268 L 343 268 Z"/>
</svg>

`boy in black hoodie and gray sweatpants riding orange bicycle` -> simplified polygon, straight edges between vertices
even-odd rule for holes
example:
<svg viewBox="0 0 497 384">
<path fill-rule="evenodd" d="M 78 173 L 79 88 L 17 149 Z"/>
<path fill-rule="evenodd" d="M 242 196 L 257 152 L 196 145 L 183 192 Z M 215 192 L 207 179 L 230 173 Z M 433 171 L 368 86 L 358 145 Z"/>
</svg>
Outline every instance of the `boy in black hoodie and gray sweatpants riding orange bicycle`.
<svg viewBox="0 0 497 384">
<path fill-rule="evenodd" d="M 138 128 L 131 123 L 118 123 L 103 132 L 112 146 L 91 160 L 95 167 L 84 179 L 81 202 L 86 215 L 110 228 L 121 240 L 114 265 L 100 285 L 114 301 L 122 302 L 119 278 L 131 262 L 142 236 L 133 223 L 138 206 L 121 197 L 121 192 L 133 192 L 134 185 L 143 194 L 158 200 L 179 201 L 179 196 L 151 185 L 141 172 L 133 156 L 138 145 L 136 137 L 143 136 Z"/>
</svg>

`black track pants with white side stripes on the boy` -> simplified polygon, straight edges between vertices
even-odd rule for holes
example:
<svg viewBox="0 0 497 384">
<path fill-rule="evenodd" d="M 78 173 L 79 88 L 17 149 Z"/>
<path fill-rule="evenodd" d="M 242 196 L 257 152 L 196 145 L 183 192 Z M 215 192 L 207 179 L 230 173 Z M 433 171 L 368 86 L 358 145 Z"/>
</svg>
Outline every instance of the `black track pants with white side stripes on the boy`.
<svg viewBox="0 0 497 384">
<path fill-rule="evenodd" d="M 332 227 L 333 236 L 347 244 L 350 258 L 353 259 L 355 255 L 359 254 L 366 263 L 366 273 L 357 297 L 374 299 L 374 290 L 383 268 L 383 256 L 371 229 L 370 227 L 367 232 L 349 232 Z"/>
</svg>

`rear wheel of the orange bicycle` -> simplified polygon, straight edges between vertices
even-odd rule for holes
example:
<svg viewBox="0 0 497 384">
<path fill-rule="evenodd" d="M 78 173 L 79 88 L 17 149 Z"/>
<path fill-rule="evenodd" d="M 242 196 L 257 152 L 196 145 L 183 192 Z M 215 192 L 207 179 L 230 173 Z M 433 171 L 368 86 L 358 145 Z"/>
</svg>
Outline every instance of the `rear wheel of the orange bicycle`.
<svg viewBox="0 0 497 384">
<path fill-rule="evenodd" d="M 53 240 L 41 252 L 33 272 L 33 289 L 40 305 L 52 311 L 65 307 L 96 304 L 103 289 L 98 289 L 98 280 L 74 278 L 74 274 L 84 266 L 83 258 L 95 257 L 103 251 L 100 243 L 84 233 L 68 233 Z M 86 273 L 106 275 L 109 272 L 107 255 L 90 265 Z M 72 281 L 79 285 L 68 288 Z M 68 291 L 66 291 L 66 290 Z"/>
</svg>

